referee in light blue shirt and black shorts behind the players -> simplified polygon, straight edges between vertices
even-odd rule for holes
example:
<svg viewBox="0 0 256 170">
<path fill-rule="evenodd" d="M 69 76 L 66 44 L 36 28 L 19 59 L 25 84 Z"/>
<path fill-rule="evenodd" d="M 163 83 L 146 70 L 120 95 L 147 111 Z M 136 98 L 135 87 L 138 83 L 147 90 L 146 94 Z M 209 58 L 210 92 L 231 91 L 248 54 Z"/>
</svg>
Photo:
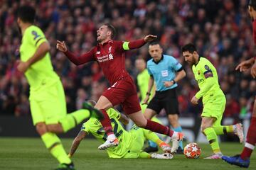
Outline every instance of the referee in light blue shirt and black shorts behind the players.
<svg viewBox="0 0 256 170">
<path fill-rule="evenodd" d="M 146 68 L 150 79 L 144 103 L 146 104 L 149 101 L 154 81 L 156 82 L 156 94 L 149 102 L 144 115 L 150 120 L 164 108 L 173 130 L 181 132 L 181 125 L 178 123 L 179 111 L 176 87 L 178 86 L 177 82 L 186 76 L 186 72 L 174 57 L 163 55 L 163 49 L 159 42 L 152 42 L 149 45 L 149 55 L 152 59 L 147 62 Z M 183 153 L 182 141 L 179 142 L 177 153 Z"/>
</svg>

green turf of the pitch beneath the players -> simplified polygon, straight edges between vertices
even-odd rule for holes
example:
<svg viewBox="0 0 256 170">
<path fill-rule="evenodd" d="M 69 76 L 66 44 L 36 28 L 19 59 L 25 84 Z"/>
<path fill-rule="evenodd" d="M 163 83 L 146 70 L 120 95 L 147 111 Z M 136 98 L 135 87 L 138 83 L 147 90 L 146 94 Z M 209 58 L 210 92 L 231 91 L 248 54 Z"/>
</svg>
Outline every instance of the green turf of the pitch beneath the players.
<svg viewBox="0 0 256 170">
<path fill-rule="evenodd" d="M 63 139 L 68 152 L 72 139 Z M 174 155 L 174 159 L 110 159 L 107 153 L 97 150 L 96 140 L 84 140 L 73 157 L 76 169 L 240 169 L 222 160 L 206 160 L 211 151 L 208 145 L 200 145 L 202 155 L 199 159 L 186 159 L 183 155 Z M 221 143 L 223 154 L 234 155 L 242 151 L 238 143 Z M 55 169 L 58 162 L 51 157 L 40 138 L 0 137 L 0 169 Z M 256 169 L 256 153 L 252 155 L 250 169 Z"/>
</svg>

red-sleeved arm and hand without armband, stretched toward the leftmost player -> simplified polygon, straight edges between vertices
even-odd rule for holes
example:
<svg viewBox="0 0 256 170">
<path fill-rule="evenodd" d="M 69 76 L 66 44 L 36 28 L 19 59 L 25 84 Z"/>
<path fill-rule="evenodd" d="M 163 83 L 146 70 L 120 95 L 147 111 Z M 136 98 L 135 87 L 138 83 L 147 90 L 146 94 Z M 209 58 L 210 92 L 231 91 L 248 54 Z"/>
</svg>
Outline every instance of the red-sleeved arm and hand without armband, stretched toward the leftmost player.
<svg viewBox="0 0 256 170">
<path fill-rule="evenodd" d="M 76 65 L 85 64 L 94 60 L 95 48 L 92 48 L 92 50 L 85 52 L 85 54 L 82 54 L 81 56 L 76 56 L 73 52 L 70 52 L 64 41 L 60 42 L 57 40 L 56 48 L 63 52 L 68 59 Z"/>
</svg>

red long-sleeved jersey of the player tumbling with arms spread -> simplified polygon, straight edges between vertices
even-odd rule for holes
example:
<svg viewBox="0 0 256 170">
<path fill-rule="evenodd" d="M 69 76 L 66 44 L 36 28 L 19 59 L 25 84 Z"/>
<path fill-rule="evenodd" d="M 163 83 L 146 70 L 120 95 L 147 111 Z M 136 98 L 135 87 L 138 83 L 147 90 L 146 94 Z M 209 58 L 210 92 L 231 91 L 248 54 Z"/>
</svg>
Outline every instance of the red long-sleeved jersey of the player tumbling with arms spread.
<svg viewBox="0 0 256 170">
<path fill-rule="evenodd" d="M 77 65 L 97 61 L 105 77 L 110 82 L 110 85 L 112 85 L 119 79 L 129 76 L 125 69 L 125 50 L 122 46 L 123 43 L 123 41 L 109 40 L 103 45 L 100 43 L 97 44 L 92 50 L 80 57 L 76 57 L 70 51 L 65 52 L 65 55 L 68 56 L 71 62 Z M 133 42 L 129 42 L 129 49 L 142 47 L 144 44 L 144 39 L 134 40 Z"/>
</svg>

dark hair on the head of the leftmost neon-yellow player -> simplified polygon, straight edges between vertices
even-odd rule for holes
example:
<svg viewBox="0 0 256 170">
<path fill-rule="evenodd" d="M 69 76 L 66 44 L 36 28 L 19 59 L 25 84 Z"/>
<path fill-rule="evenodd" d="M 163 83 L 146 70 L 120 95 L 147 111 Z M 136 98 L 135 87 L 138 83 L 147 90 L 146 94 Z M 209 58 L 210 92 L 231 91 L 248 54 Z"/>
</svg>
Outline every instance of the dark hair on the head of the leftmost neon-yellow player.
<svg viewBox="0 0 256 170">
<path fill-rule="evenodd" d="M 18 18 L 24 23 L 33 23 L 36 17 L 36 10 L 31 6 L 21 6 L 18 8 Z"/>
</svg>

